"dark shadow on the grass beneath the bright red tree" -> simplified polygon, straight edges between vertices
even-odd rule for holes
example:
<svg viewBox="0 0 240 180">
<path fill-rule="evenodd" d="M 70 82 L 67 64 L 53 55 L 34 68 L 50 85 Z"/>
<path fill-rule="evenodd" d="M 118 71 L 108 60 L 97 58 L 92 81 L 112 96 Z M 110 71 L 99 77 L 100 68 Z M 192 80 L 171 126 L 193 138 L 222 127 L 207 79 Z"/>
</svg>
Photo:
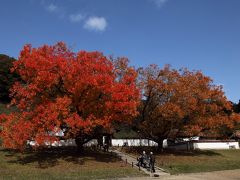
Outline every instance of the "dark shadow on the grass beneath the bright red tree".
<svg viewBox="0 0 240 180">
<path fill-rule="evenodd" d="M 104 153 L 102 151 L 85 149 L 84 152 L 79 153 L 76 148 L 48 148 L 37 151 L 25 151 L 23 153 L 3 149 L 6 157 L 12 157 L 8 163 L 30 164 L 37 163 L 38 168 L 48 168 L 59 164 L 59 161 L 72 162 L 74 164 L 83 165 L 85 162 L 95 160 L 98 162 L 117 162 L 120 158 L 113 153 Z"/>
</svg>

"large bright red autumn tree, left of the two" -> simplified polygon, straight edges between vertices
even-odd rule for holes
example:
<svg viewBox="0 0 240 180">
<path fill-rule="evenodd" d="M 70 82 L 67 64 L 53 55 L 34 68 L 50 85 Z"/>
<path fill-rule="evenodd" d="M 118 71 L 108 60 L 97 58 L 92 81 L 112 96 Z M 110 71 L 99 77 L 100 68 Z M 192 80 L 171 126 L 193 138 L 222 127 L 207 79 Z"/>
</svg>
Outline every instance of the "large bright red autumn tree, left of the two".
<svg viewBox="0 0 240 180">
<path fill-rule="evenodd" d="M 137 73 L 125 58 L 113 62 L 99 52 L 74 53 L 62 42 L 26 45 L 13 71 L 24 83 L 12 88 L 18 112 L 0 118 L 5 147 L 22 149 L 28 140 L 44 145 L 57 140 L 50 132 L 63 127 L 82 147 L 98 129 L 130 122 L 137 114 Z"/>
</svg>

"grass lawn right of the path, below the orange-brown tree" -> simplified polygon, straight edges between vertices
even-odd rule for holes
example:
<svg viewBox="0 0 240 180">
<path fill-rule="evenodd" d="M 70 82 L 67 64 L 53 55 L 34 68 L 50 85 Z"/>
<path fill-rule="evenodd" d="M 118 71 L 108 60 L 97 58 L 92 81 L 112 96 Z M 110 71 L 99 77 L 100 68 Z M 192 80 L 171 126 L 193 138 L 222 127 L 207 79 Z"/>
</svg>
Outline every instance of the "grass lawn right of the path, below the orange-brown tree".
<svg viewBox="0 0 240 180">
<path fill-rule="evenodd" d="M 135 156 L 141 152 L 124 151 Z M 240 169 L 240 150 L 168 151 L 155 155 L 156 164 L 171 174 Z"/>
</svg>

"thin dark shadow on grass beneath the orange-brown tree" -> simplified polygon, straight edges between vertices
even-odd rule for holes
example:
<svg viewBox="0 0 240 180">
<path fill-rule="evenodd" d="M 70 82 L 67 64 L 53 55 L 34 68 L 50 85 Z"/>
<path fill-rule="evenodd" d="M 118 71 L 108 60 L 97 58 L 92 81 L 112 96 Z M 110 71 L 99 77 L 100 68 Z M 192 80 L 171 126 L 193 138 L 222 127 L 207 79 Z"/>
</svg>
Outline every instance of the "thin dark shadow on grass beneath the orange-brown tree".
<svg viewBox="0 0 240 180">
<path fill-rule="evenodd" d="M 159 152 L 156 147 L 124 147 L 122 151 L 126 153 L 132 153 L 139 155 L 142 151 L 146 151 L 148 154 L 152 151 L 155 155 L 174 155 L 174 156 L 222 156 L 221 153 L 212 150 L 172 150 L 172 149 L 164 149 L 163 151 Z"/>
</svg>

